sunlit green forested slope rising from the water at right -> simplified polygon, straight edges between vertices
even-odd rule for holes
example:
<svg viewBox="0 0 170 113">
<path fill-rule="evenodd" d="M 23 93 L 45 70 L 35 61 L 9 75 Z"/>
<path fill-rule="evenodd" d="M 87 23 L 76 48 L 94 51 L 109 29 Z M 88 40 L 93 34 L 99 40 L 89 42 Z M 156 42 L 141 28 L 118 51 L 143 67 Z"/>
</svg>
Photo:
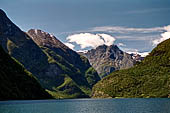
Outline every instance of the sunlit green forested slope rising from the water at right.
<svg viewBox="0 0 170 113">
<path fill-rule="evenodd" d="M 94 98 L 170 97 L 170 39 L 135 67 L 116 71 L 93 87 Z"/>
</svg>

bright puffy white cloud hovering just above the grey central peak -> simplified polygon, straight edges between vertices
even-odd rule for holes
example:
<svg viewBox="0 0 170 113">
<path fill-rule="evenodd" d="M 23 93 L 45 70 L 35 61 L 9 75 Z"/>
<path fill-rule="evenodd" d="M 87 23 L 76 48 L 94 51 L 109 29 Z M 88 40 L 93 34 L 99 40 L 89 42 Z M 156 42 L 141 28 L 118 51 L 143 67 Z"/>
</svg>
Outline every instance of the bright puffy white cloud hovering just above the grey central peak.
<svg viewBox="0 0 170 113">
<path fill-rule="evenodd" d="M 92 47 L 96 48 L 99 45 L 112 45 L 115 38 L 108 34 L 92 34 L 92 33 L 80 33 L 67 37 L 68 42 L 75 42 L 80 45 L 81 49 Z"/>
</svg>

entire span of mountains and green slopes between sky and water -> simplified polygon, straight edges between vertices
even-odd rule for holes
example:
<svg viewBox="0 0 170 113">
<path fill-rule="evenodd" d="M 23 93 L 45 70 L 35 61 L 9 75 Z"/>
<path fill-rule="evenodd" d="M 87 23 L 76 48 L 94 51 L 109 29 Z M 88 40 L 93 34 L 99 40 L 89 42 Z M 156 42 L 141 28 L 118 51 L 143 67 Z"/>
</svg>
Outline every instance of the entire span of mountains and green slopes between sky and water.
<svg viewBox="0 0 170 113">
<path fill-rule="evenodd" d="M 170 39 L 145 58 L 115 44 L 76 52 L 0 9 L 0 45 L 1 100 L 170 97 Z"/>
</svg>

